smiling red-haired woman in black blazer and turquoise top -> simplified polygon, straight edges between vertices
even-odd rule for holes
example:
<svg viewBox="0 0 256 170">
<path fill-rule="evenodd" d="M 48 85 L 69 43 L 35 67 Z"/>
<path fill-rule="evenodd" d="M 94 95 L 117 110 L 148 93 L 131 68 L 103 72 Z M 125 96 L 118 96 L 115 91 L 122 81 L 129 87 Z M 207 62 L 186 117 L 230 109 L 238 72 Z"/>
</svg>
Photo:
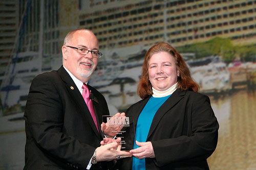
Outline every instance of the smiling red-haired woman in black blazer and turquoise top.
<svg viewBox="0 0 256 170">
<path fill-rule="evenodd" d="M 147 51 L 137 88 L 142 100 L 126 111 L 136 128 L 133 158 L 120 160 L 120 169 L 209 169 L 219 124 L 198 90 L 175 48 L 160 42 Z"/>
</svg>

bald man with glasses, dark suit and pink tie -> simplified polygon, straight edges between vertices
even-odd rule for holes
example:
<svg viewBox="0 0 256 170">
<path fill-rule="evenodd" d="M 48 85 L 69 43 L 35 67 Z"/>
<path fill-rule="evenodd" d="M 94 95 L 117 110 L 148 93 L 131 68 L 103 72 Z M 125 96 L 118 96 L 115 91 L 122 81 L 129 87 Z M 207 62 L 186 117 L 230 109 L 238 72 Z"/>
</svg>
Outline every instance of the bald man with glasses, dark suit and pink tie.
<svg viewBox="0 0 256 170">
<path fill-rule="evenodd" d="M 105 161 L 131 156 L 113 149 L 117 142 L 100 146 L 101 116 L 109 110 L 103 95 L 88 81 L 101 55 L 90 30 L 74 30 L 62 46 L 63 66 L 32 81 L 24 114 L 24 169 L 108 169 Z M 95 122 L 83 86 L 91 92 Z"/>
</svg>

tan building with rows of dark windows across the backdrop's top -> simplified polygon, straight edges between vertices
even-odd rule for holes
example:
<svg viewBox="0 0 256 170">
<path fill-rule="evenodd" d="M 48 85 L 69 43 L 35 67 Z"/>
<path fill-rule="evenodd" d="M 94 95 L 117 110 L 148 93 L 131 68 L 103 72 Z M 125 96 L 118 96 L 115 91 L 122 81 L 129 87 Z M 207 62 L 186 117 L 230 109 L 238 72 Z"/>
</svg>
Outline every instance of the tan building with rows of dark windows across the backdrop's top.
<svg viewBox="0 0 256 170">
<path fill-rule="evenodd" d="M 79 27 L 93 30 L 100 48 L 204 42 L 215 36 L 253 43 L 256 1 L 91 1 Z M 83 7 L 81 7 L 83 9 Z"/>
</svg>

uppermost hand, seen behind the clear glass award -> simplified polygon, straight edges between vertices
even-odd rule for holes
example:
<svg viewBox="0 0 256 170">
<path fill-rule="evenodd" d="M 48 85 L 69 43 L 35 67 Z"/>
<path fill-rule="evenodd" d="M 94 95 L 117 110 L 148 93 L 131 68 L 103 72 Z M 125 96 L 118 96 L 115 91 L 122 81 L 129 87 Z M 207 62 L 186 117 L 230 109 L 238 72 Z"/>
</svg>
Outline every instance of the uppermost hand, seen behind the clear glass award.
<svg viewBox="0 0 256 170">
<path fill-rule="evenodd" d="M 124 112 L 116 113 L 113 117 L 121 117 L 121 120 L 123 120 L 125 119 L 125 113 Z M 104 133 L 106 137 L 110 137 L 110 138 L 116 136 L 116 133 L 118 133 L 118 131 L 121 131 L 122 128 L 123 128 L 123 125 L 109 126 L 108 123 L 101 124 L 101 131 Z"/>
</svg>

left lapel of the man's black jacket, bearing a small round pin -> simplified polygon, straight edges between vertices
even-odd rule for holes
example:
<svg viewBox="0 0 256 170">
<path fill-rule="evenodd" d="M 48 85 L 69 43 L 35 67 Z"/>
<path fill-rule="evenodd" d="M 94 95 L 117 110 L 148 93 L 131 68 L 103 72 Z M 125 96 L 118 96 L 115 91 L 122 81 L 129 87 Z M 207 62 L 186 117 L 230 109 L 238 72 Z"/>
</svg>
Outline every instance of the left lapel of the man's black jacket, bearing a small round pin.
<svg viewBox="0 0 256 170">
<path fill-rule="evenodd" d="M 63 80 L 63 82 L 66 83 L 66 87 L 67 87 L 68 92 L 70 93 L 73 100 L 75 101 L 75 104 L 79 108 L 81 117 L 83 117 L 87 120 L 87 122 L 92 127 L 93 131 L 95 132 L 95 134 L 97 135 L 99 140 L 102 140 L 102 137 L 98 133 L 98 130 L 96 129 L 96 126 L 93 122 L 93 118 L 91 116 L 91 113 L 90 113 L 86 103 L 84 102 L 84 100 L 82 98 L 82 95 L 81 95 L 80 91 L 78 90 L 76 84 L 74 83 L 74 81 L 69 76 L 68 72 L 65 70 L 65 68 L 63 66 L 61 66 L 58 69 L 58 72 L 59 72 L 59 75 L 60 75 L 61 79 Z M 98 117 L 96 117 L 96 118 L 97 118 L 97 121 L 98 121 Z"/>
</svg>

